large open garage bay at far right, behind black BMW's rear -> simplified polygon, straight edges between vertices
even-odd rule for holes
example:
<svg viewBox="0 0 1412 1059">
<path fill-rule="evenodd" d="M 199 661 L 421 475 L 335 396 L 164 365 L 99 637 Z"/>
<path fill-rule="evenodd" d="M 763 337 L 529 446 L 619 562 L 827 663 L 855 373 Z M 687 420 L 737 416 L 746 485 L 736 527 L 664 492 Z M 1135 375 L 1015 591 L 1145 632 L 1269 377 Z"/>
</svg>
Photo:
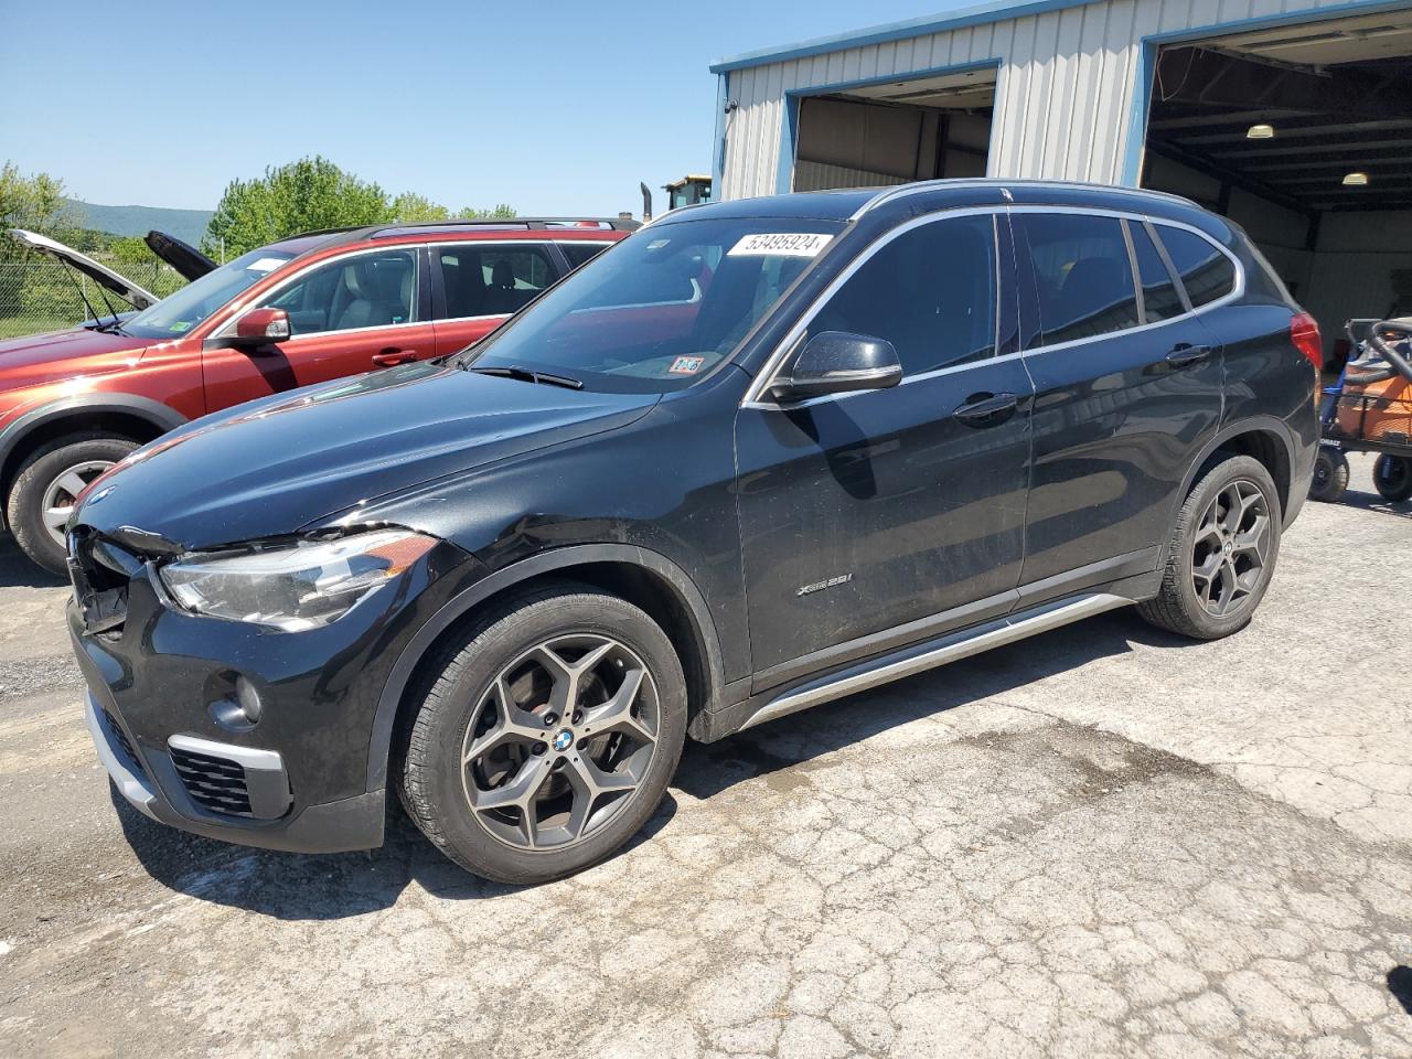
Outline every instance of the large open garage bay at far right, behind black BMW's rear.
<svg viewBox="0 0 1412 1059">
<path fill-rule="evenodd" d="M 1241 225 L 1337 366 L 1412 315 L 1412 11 L 1163 47 L 1141 182 Z"/>
</svg>

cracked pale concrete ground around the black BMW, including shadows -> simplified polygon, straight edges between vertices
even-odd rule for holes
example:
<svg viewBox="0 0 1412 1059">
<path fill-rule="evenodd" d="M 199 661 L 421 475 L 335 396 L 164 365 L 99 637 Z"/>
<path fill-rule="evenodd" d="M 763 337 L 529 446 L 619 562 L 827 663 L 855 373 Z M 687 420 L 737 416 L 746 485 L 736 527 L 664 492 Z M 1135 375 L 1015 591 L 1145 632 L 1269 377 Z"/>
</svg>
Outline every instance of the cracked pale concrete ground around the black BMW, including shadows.
<svg viewBox="0 0 1412 1059">
<path fill-rule="evenodd" d="M 692 747 L 531 890 L 114 812 L 7 556 L 0 1053 L 1412 1055 L 1412 521 L 1353 500 L 1228 641 L 1118 611 Z"/>
</svg>

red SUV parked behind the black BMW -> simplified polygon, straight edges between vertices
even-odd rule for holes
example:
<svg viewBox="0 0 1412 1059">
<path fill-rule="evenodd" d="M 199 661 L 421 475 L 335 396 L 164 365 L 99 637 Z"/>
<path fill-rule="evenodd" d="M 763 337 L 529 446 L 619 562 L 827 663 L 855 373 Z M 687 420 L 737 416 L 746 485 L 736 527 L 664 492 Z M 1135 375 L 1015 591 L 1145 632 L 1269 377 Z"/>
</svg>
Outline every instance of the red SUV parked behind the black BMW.
<svg viewBox="0 0 1412 1059">
<path fill-rule="evenodd" d="M 25 555 L 62 573 L 73 498 L 138 445 L 241 401 L 455 353 L 634 227 L 517 219 L 312 232 L 161 301 L 72 254 L 107 289 L 148 304 L 0 343 L 6 524 Z"/>
</svg>

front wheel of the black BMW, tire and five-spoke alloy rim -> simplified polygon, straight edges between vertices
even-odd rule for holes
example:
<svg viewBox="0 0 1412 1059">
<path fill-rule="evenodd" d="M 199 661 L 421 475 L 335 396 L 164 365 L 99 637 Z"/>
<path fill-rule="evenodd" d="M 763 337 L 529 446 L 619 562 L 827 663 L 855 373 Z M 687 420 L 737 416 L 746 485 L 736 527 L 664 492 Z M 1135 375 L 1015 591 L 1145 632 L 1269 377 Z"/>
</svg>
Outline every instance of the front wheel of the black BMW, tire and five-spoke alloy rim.
<svg viewBox="0 0 1412 1059">
<path fill-rule="evenodd" d="M 545 882 L 616 851 L 686 738 L 686 681 L 642 610 L 586 586 L 511 600 L 432 659 L 401 795 L 467 871 Z"/>
</svg>

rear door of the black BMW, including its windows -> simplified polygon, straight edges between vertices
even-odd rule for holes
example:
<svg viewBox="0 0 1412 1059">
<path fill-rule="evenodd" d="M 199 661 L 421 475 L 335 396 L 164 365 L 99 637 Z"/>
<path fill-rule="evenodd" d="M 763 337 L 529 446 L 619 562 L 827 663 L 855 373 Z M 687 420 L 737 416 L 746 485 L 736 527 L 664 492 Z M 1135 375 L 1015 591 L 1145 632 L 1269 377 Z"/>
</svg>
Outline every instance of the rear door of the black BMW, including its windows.
<svg viewBox="0 0 1412 1059">
<path fill-rule="evenodd" d="M 1021 593 L 1039 602 L 1154 569 L 1172 494 L 1220 424 L 1223 370 L 1141 217 L 1014 219 L 1035 381 Z"/>
</svg>

